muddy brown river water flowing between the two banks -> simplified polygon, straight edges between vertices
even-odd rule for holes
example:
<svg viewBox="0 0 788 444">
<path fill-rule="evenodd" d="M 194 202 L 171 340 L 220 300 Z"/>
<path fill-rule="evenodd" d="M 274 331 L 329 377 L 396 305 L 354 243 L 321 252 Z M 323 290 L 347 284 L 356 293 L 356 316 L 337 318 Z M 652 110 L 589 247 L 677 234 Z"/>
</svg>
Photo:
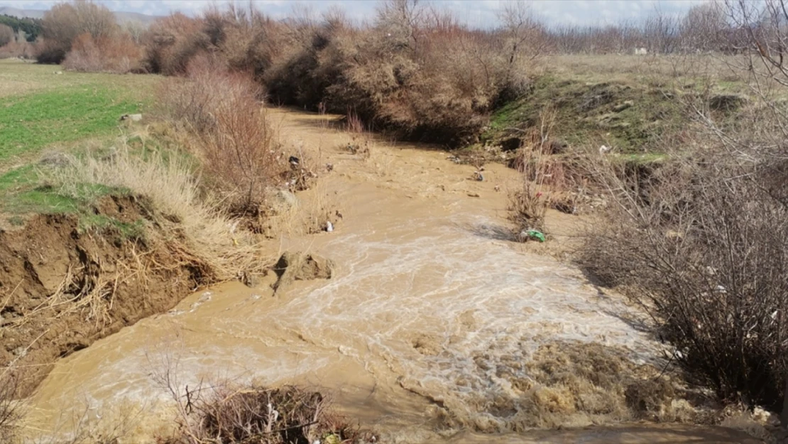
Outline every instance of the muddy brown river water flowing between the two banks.
<svg viewBox="0 0 788 444">
<path fill-rule="evenodd" d="M 191 387 L 221 378 L 320 387 L 383 442 L 748 442 L 718 427 L 648 424 L 507 432 L 517 412 L 494 406 L 522 393 L 502 368 L 526 378 L 511 363 L 528 362 L 541 345 L 594 342 L 642 364 L 658 364 L 662 345 L 577 269 L 508 240 L 514 171 L 491 165 L 485 181 L 472 181 L 473 167 L 448 162 L 445 151 L 383 141 L 364 160 L 344 151 L 348 135 L 327 118 L 271 113 L 294 149 L 333 163 L 301 204 L 330 200 L 343 218 L 332 233 L 283 236 L 266 248 L 333 259 L 333 278 L 276 296 L 265 281 L 217 285 L 96 341 L 39 386 L 31 427 L 67 433 L 64 419 L 142 405 L 146 430 L 130 441 L 139 442 L 172 418 L 169 395 L 151 378 L 170 368 Z M 466 430 L 446 430 L 440 409 Z"/>
</svg>

